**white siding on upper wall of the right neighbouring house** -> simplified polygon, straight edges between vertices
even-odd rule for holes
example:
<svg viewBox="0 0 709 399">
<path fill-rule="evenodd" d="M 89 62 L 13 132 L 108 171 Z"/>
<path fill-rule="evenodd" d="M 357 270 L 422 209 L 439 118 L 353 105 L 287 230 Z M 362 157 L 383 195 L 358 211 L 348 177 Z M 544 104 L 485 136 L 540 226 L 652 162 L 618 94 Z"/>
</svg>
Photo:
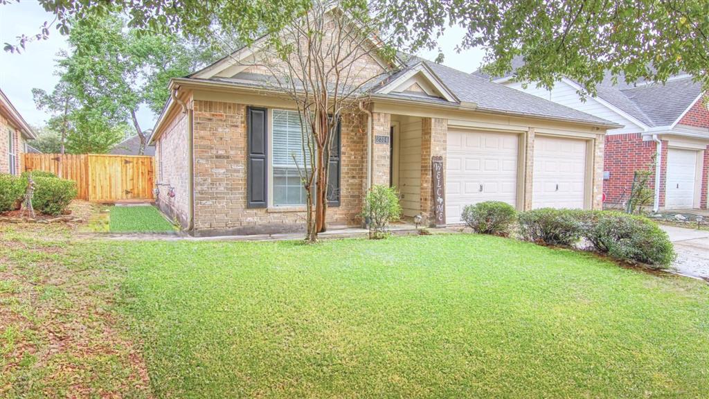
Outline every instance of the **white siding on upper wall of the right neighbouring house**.
<svg viewBox="0 0 709 399">
<path fill-rule="evenodd" d="M 536 87 L 535 83 L 528 84 L 526 89 L 522 87 L 522 83 L 520 82 L 507 83 L 506 85 L 513 89 L 518 89 L 520 92 L 533 94 L 542 99 L 547 99 L 557 104 L 568 106 L 569 108 L 578 109 L 579 111 L 586 112 L 586 114 L 598 116 L 607 121 L 625 126 L 623 129 L 609 130 L 608 134 L 638 133 L 642 131 L 640 126 L 637 126 L 630 120 L 608 108 L 608 106 L 601 104 L 601 102 L 593 99 L 593 97 L 587 96 L 586 102 L 582 101 L 579 94 L 576 93 L 576 89 L 564 81 L 557 82 L 551 91 L 543 87 Z"/>
</svg>

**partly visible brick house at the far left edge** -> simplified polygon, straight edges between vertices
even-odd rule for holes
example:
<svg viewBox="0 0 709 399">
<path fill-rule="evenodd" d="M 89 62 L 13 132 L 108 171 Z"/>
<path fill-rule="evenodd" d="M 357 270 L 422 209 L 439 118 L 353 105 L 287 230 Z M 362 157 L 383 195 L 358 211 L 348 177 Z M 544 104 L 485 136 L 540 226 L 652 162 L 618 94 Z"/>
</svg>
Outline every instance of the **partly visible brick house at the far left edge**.
<svg viewBox="0 0 709 399">
<path fill-rule="evenodd" d="M 0 90 L 0 173 L 22 173 L 22 154 L 35 133 Z"/>
</svg>

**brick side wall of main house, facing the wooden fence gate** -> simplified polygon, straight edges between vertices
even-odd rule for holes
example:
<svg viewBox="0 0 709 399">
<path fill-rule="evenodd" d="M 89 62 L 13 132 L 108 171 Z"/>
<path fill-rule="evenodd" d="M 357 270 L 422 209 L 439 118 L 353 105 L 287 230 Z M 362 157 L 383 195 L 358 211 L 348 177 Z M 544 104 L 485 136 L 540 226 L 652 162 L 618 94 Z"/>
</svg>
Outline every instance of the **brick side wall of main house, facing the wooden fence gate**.
<svg viewBox="0 0 709 399">
<path fill-rule="evenodd" d="M 183 229 L 189 220 L 188 119 L 186 113 L 178 111 L 155 145 L 155 175 L 160 190 L 156 202 Z M 170 187 L 174 188 L 174 197 L 168 195 Z"/>
</svg>

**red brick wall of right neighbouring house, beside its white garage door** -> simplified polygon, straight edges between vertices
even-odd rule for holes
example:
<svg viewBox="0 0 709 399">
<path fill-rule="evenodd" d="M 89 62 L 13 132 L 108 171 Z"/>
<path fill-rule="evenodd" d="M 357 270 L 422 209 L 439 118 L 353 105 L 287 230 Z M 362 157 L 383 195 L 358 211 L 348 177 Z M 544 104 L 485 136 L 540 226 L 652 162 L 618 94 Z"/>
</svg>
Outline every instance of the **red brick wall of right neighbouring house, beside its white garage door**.
<svg viewBox="0 0 709 399">
<path fill-rule="evenodd" d="M 657 143 L 642 141 L 640 133 L 615 134 L 605 136 L 605 158 L 603 170 L 610 171 L 610 179 L 603 180 L 605 206 L 619 206 L 630 197 L 632 178 L 635 170 L 652 168 L 653 155 Z M 660 187 L 664 187 L 666 170 L 666 142 L 663 143 L 662 172 Z M 654 187 L 654 173 L 651 186 Z M 660 202 L 664 202 L 664 190 L 660 193 Z"/>
</svg>

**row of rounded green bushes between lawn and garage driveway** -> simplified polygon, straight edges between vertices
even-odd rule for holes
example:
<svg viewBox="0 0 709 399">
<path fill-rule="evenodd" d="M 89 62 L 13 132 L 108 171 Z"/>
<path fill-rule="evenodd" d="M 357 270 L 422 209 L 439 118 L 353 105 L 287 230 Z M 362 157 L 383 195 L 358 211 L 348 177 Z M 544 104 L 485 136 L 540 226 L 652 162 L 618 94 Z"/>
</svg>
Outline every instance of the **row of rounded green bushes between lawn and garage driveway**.
<svg viewBox="0 0 709 399">
<path fill-rule="evenodd" d="M 465 207 L 462 218 L 477 233 L 503 236 L 516 219 L 526 241 L 573 246 L 585 239 L 592 251 L 654 268 L 667 268 L 675 258 L 669 237 L 655 222 L 622 212 L 543 208 L 518 213 L 509 204 L 489 201 Z"/>
</svg>

